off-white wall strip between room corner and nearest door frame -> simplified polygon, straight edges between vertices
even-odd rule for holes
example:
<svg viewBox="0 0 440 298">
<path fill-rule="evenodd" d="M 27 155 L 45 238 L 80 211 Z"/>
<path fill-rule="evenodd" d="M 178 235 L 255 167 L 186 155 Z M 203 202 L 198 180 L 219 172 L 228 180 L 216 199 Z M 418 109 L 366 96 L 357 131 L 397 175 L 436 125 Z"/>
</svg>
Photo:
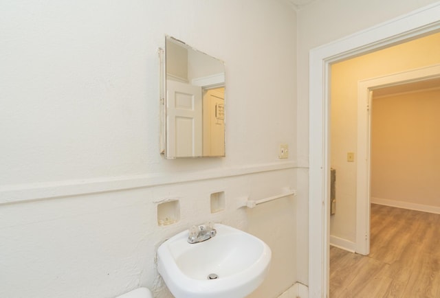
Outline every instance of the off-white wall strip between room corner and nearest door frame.
<svg viewBox="0 0 440 298">
<path fill-rule="evenodd" d="M 316 0 L 298 11 L 298 227 L 307 227 L 309 152 L 309 51 L 437 1 Z M 317 86 L 320 88 L 320 86 Z M 298 229 L 298 281 L 308 281 L 308 230 Z"/>
</svg>

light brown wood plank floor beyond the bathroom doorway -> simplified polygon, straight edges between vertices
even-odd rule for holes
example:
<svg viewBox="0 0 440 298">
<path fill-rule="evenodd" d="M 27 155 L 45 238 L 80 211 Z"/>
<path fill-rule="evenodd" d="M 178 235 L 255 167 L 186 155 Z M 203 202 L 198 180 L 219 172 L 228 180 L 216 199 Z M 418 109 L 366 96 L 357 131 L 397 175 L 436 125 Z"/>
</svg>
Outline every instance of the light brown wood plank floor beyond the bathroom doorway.
<svg viewBox="0 0 440 298">
<path fill-rule="evenodd" d="M 370 255 L 330 248 L 330 297 L 440 298 L 440 214 L 372 204 Z"/>
</svg>

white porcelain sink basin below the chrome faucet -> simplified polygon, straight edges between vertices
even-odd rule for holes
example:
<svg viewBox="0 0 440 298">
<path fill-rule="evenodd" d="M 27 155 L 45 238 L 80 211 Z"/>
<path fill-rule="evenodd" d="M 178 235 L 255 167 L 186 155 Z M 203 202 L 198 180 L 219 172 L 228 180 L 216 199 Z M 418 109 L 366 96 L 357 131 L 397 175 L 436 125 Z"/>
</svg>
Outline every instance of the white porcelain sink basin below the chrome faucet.
<svg viewBox="0 0 440 298">
<path fill-rule="evenodd" d="M 176 298 L 243 298 L 263 282 L 272 252 L 260 240 L 227 225 L 189 244 L 188 230 L 157 249 L 157 271 Z"/>
</svg>

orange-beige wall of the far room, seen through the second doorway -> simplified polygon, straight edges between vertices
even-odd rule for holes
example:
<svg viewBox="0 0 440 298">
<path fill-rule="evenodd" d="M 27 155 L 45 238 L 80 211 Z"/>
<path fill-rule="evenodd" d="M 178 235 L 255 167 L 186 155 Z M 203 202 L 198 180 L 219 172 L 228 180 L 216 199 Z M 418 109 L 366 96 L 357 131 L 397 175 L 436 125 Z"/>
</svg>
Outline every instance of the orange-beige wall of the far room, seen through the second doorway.
<svg viewBox="0 0 440 298">
<path fill-rule="evenodd" d="M 440 206 L 439 115 L 440 89 L 373 97 L 373 198 Z"/>
</svg>

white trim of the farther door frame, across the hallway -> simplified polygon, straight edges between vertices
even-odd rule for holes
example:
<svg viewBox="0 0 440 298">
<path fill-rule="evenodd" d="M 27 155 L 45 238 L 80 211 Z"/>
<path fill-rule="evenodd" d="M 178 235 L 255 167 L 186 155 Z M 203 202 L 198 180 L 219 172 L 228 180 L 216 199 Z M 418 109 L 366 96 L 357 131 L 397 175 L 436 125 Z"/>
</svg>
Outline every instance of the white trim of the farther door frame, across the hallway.
<svg viewBox="0 0 440 298">
<path fill-rule="evenodd" d="M 440 65 L 410 69 L 358 82 L 358 165 L 356 183 L 356 249 L 370 251 L 371 91 L 374 89 L 438 78 Z"/>
</svg>

